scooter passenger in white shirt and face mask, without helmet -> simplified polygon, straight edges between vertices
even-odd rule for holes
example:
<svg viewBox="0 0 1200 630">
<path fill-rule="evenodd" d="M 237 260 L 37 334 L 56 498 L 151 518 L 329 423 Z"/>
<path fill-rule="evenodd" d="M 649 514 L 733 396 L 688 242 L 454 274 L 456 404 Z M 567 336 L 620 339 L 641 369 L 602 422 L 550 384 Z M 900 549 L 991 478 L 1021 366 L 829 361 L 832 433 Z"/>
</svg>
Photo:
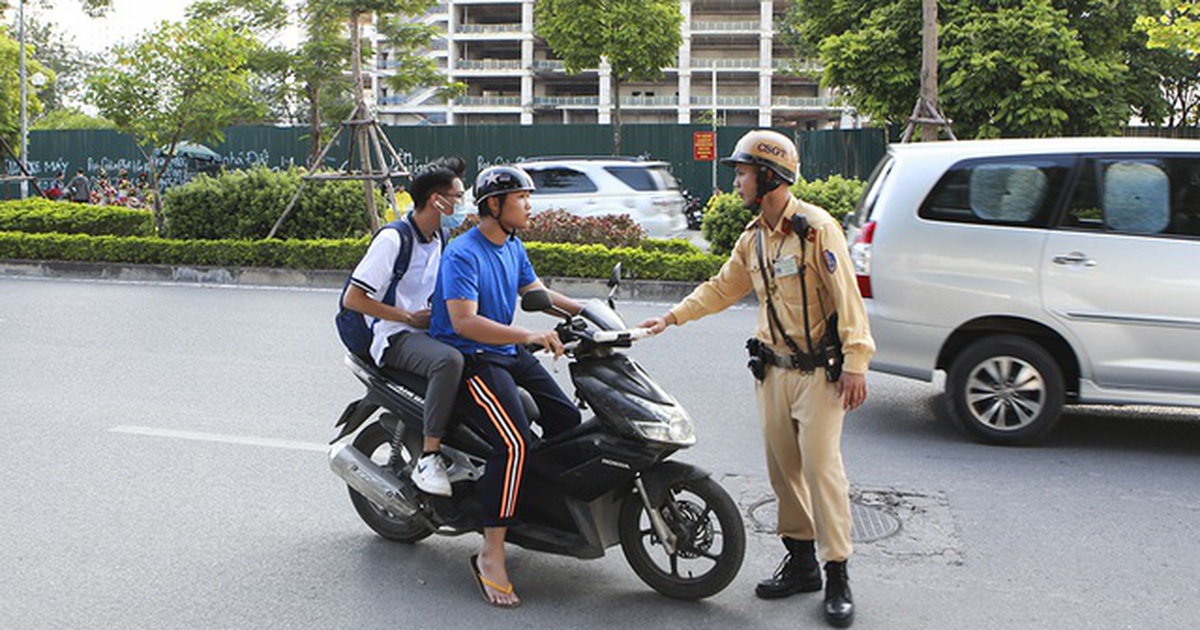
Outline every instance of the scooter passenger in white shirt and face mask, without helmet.
<svg viewBox="0 0 1200 630">
<path fill-rule="evenodd" d="M 371 358 L 379 366 L 413 372 L 428 379 L 425 391 L 422 455 L 413 467 L 416 487 L 449 497 L 450 480 L 442 458 L 442 438 L 454 412 L 462 377 L 462 353 L 428 336 L 430 305 L 442 260 L 442 227 L 452 229 L 466 217 L 462 184 L 466 164 L 449 157 L 413 176 L 413 211 L 398 229 L 410 229 L 408 269 L 400 278 L 395 304 L 383 301 L 401 253 L 397 229 L 376 234 L 366 256 L 354 268 L 342 306 L 362 313 L 373 332 Z M 397 432 L 400 434 L 400 432 Z M 392 449 L 401 448 L 392 444 Z"/>
</svg>

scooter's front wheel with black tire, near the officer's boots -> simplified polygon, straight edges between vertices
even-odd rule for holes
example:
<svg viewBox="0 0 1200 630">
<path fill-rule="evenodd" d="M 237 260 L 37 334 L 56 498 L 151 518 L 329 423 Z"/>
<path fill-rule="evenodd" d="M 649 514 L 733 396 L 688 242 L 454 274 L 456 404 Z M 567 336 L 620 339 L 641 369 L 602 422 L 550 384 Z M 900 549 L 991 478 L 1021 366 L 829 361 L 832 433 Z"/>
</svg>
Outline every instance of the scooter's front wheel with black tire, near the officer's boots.
<svg viewBox="0 0 1200 630">
<path fill-rule="evenodd" d="M 650 522 L 642 497 L 620 506 L 620 548 L 634 572 L 654 590 L 697 600 L 720 593 L 742 569 L 745 529 L 738 506 L 716 481 L 689 479 L 671 485 L 656 508 L 676 536 L 668 552 Z"/>
</svg>

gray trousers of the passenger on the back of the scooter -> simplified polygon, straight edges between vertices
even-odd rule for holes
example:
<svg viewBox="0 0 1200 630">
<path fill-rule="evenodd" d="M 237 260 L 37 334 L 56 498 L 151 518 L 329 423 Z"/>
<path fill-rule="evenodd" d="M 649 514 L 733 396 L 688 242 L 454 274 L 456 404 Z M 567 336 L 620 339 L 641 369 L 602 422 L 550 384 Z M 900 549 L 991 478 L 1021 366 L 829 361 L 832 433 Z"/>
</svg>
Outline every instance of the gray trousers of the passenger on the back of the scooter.
<svg viewBox="0 0 1200 630">
<path fill-rule="evenodd" d="M 462 353 L 425 332 L 397 332 L 388 342 L 383 362 L 428 379 L 425 389 L 425 437 L 445 436 L 462 379 Z"/>
</svg>

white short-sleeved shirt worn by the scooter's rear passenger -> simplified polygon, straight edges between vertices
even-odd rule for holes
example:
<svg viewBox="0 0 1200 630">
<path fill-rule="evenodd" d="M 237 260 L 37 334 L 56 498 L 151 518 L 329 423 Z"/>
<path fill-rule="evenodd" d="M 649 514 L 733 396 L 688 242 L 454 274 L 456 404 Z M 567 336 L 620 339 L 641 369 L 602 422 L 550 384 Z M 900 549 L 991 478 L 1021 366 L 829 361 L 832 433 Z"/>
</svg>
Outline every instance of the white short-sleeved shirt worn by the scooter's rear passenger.
<svg viewBox="0 0 1200 630">
<path fill-rule="evenodd" d="M 404 311 L 421 311 L 428 308 L 433 299 L 433 289 L 438 280 L 438 265 L 442 263 L 442 244 L 434 233 L 434 238 L 424 240 L 412 224 L 412 217 L 404 220 L 412 228 L 413 250 L 408 259 L 408 270 L 396 284 L 396 304 Z M 403 227 L 398 229 L 404 229 Z M 388 284 L 391 283 L 391 272 L 395 269 L 396 256 L 400 254 L 400 233 L 395 229 L 379 230 L 367 247 L 366 256 L 354 268 L 350 275 L 350 283 L 361 288 L 371 299 L 383 301 Z M 362 316 L 367 326 L 373 332 L 371 340 L 371 358 L 376 365 L 383 365 L 383 354 L 388 350 L 388 340 L 396 332 L 404 330 L 422 330 L 392 322 L 389 319 L 377 319 Z M 424 330 L 422 330 L 424 331 Z"/>
</svg>

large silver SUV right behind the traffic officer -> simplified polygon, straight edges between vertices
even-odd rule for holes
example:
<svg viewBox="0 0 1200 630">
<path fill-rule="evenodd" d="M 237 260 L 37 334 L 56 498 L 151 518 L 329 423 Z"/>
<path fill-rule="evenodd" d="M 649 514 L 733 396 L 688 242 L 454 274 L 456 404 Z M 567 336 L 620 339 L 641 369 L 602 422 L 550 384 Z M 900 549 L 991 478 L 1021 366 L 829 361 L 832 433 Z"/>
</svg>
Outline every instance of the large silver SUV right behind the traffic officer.
<svg viewBox="0 0 1200 630">
<path fill-rule="evenodd" d="M 1063 403 L 1200 407 L 1200 142 L 893 145 L 847 217 L 871 368 L 946 371 L 973 437 Z"/>
</svg>

